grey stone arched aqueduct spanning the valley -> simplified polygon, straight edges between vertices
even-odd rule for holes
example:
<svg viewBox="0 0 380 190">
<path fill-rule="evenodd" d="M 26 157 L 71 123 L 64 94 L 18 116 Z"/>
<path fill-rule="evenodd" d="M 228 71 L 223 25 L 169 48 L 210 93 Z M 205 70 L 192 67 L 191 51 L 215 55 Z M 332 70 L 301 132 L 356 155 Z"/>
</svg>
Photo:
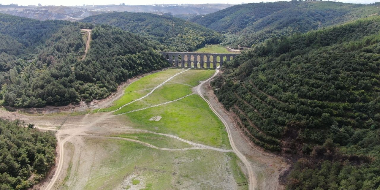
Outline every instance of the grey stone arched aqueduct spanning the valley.
<svg viewBox="0 0 380 190">
<path fill-rule="evenodd" d="M 223 65 L 224 57 L 229 61 L 236 55 L 240 54 L 209 54 L 209 53 L 195 53 L 195 52 L 164 52 L 159 51 L 166 60 L 175 67 L 198 67 L 199 68 L 212 68 L 217 67 L 217 63 L 220 66 Z"/>
</svg>

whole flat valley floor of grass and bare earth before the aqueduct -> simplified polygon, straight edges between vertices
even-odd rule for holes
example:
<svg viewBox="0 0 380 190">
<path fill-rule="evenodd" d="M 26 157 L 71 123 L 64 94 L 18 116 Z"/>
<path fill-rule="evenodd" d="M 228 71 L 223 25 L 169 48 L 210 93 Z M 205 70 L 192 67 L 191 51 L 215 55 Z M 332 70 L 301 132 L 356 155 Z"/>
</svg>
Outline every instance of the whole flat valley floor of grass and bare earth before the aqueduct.
<svg viewBox="0 0 380 190">
<path fill-rule="evenodd" d="M 248 172 L 244 169 L 246 163 L 243 164 L 232 152 L 225 124 L 194 91 L 197 86 L 204 89 L 199 81 L 208 84 L 214 73 L 215 70 L 167 69 L 147 75 L 127 86 L 123 96 L 110 106 L 93 109 L 85 115 L 73 114 L 59 128 L 65 116 L 17 114 L 20 119 L 35 123 L 35 127 L 41 130 L 57 130 L 56 136 L 60 139 L 59 164 L 52 180 L 42 187 L 47 190 L 101 187 L 230 189 L 234 185 L 234 189 L 248 189 L 249 179 L 243 174 Z M 158 88 L 146 96 L 155 87 Z M 123 114 L 185 95 L 190 96 L 166 105 Z M 139 100 L 141 97 L 144 98 Z M 124 106 L 133 100 L 139 101 Z M 5 119 L 11 115 L 7 111 L 0 113 Z M 150 120 L 155 116 L 161 119 Z M 234 139 L 239 143 L 239 150 L 252 149 L 241 143 L 242 140 Z M 250 164 L 252 154 L 244 153 Z M 279 162 L 274 166 L 276 169 L 286 166 L 285 163 L 280 164 L 282 160 L 274 155 L 271 159 Z M 258 161 L 253 165 L 266 168 L 266 163 Z M 275 179 L 278 172 L 272 174 L 267 169 L 255 170 L 253 176 L 250 175 L 254 180 L 251 185 L 254 186 L 249 189 L 277 185 L 268 186 L 267 178 L 260 179 L 256 175 Z M 139 180 L 139 184 L 133 184 L 133 180 Z"/>
</svg>

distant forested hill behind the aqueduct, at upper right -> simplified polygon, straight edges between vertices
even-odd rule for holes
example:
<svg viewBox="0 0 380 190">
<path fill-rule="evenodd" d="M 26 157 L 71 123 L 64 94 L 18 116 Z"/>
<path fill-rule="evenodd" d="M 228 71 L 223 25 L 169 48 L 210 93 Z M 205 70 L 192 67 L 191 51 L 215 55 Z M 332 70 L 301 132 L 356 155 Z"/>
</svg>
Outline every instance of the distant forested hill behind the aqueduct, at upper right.
<svg viewBox="0 0 380 190">
<path fill-rule="evenodd" d="M 224 45 L 251 47 L 272 37 L 290 36 L 380 13 L 380 4 L 328 1 L 248 3 L 191 21 L 223 33 Z"/>
</svg>

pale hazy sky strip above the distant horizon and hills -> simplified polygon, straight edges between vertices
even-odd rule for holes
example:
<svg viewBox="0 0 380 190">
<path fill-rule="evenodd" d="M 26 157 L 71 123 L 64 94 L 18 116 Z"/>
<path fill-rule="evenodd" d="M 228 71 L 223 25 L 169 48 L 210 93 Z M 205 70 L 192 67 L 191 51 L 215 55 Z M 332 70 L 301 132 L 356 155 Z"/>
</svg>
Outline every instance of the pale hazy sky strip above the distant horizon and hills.
<svg viewBox="0 0 380 190">
<path fill-rule="evenodd" d="M 152 5 L 152 4 L 203 4 L 203 3 L 258 3 L 258 2 L 274 2 L 276 0 L 0 0 L 3 5 L 9 5 L 10 3 L 17 3 L 18 5 L 110 5 L 119 3 L 125 3 L 126 5 Z M 380 2 L 380 0 L 337 0 L 345 3 L 374 3 Z"/>
</svg>

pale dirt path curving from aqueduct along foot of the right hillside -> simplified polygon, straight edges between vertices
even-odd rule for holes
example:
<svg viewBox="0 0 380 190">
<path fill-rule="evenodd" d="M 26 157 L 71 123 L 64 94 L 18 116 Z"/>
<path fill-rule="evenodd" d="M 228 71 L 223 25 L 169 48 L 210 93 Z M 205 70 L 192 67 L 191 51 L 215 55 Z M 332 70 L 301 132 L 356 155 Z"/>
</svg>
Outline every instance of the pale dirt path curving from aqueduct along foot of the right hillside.
<svg viewBox="0 0 380 190">
<path fill-rule="evenodd" d="M 231 131 L 230 131 L 230 126 L 228 125 L 228 123 L 223 119 L 222 116 L 219 115 L 219 113 L 212 107 L 211 103 L 206 99 L 204 98 L 202 92 L 201 92 L 201 87 L 204 83 L 208 82 L 209 80 L 211 80 L 212 78 L 214 78 L 217 74 L 219 73 L 219 70 L 215 70 L 215 74 L 207 79 L 206 81 L 203 81 L 201 84 L 199 84 L 197 87 L 196 87 L 196 92 L 198 92 L 198 94 L 201 96 L 201 98 L 203 98 L 204 101 L 207 102 L 207 104 L 209 105 L 210 109 L 219 117 L 219 119 L 223 122 L 223 124 L 225 125 L 226 127 L 226 130 L 227 130 L 227 133 L 228 133 L 228 139 L 230 140 L 230 144 L 231 144 L 231 147 L 232 147 L 232 150 L 233 152 L 235 152 L 235 154 L 237 155 L 237 157 L 240 158 L 240 160 L 244 163 L 245 165 L 245 168 L 247 169 L 247 173 L 248 173 L 248 180 L 249 180 L 249 190 L 255 190 L 256 186 L 257 186 L 257 183 L 256 183 L 256 177 L 255 177 L 255 174 L 253 173 L 253 170 L 252 170 L 252 166 L 251 166 L 251 163 L 247 160 L 247 158 L 245 158 L 244 154 L 242 154 L 236 147 L 235 145 L 235 142 L 234 142 L 234 139 L 233 137 L 231 136 Z"/>
</svg>

